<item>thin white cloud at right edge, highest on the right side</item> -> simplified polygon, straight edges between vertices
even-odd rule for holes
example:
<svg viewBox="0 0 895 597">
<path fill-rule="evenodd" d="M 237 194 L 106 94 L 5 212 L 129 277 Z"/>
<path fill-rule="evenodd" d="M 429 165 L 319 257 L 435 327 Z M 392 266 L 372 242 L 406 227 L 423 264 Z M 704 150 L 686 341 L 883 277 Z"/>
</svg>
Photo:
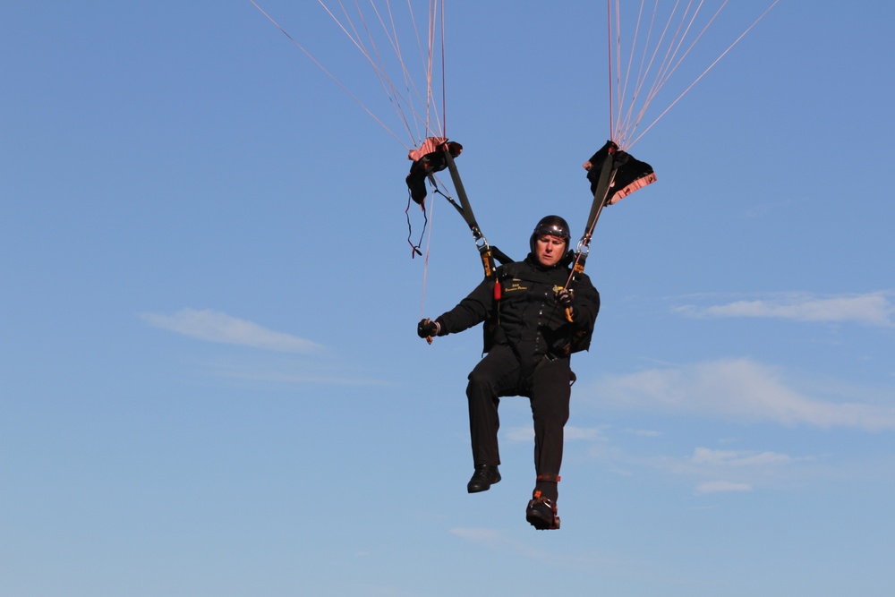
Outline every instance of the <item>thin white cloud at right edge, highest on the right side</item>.
<svg viewBox="0 0 895 597">
<path fill-rule="evenodd" d="M 751 317 L 830 323 L 858 323 L 883 328 L 895 327 L 895 302 L 891 292 L 869 294 L 775 294 L 768 298 L 700 306 L 686 304 L 673 311 L 688 317 Z"/>
</svg>

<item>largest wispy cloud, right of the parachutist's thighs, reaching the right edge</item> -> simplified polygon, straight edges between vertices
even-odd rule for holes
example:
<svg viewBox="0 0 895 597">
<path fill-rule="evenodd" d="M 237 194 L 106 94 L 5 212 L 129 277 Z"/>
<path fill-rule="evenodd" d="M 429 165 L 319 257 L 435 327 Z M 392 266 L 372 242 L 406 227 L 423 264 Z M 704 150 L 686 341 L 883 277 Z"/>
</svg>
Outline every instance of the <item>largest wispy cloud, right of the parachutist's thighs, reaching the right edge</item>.
<svg viewBox="0 0 895 597">
<path fill-rule="evenodd" d="M 785 425 L 895 430 L 895 405 L 820 399 L 794 387 L 777 369 L 749 359 L 702 362 L 606 377 L 588 395 L 601 408 L 646 409 Z"/>
</svg>

